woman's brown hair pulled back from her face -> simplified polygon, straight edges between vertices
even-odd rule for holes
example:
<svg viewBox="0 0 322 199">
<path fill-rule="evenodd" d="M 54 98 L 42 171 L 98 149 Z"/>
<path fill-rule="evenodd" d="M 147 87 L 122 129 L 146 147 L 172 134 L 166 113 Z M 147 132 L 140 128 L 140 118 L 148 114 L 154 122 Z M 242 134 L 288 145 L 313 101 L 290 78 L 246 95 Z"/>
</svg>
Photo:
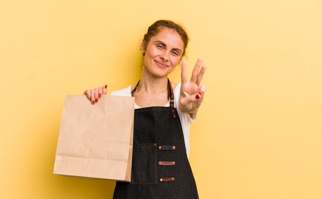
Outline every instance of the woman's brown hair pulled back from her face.
<svg viewBox="0 0 322 199">
<path fill-rule="evenodd" d="M 150 38 L 152 36 L 157 35 L 161 31 L 161 29 L 164 27 L 170 28 L 170 29 L 176 31 L 181 36 L 181 39 L 184 43 L 184 50 L 182 53 L 182 57 L 183 57 L 186 53 L 186 48 L 187 48 L 187 45 L 189 42 L 188 34 L 181 25 L 178 25 L 178 24 L 176 24 L 172 21 L 169 21 L 169 20 L 158 20 L 158 21 L 154 22 L 148 28 L 148 32 L 144 35 L 144 38 L 143 38 L 145 48 L 147 47 L 148 43 L 150 42 Z M 144 55 L 145 55 L 145 53 L 143 53 L 143 56 Z"/>
</svg>

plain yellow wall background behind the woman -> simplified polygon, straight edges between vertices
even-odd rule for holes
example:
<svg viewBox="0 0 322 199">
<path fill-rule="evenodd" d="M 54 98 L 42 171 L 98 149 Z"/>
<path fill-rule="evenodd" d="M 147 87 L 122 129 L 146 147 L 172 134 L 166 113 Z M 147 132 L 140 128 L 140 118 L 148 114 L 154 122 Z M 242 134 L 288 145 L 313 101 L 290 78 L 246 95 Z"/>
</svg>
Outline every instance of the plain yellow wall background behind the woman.
<svg viewBox="0 0 322 199">
<path fill-rule="evenodd" d="M 0 198 L 112 197 L 113 181 L 52 174 L 64 97 L 136 83 L 161 18 L 185 25 L 189 71 L 208 67 L 190 136 L 200 198 L 322 198 L 319 0 L 0 1 Z"/>
</svg>

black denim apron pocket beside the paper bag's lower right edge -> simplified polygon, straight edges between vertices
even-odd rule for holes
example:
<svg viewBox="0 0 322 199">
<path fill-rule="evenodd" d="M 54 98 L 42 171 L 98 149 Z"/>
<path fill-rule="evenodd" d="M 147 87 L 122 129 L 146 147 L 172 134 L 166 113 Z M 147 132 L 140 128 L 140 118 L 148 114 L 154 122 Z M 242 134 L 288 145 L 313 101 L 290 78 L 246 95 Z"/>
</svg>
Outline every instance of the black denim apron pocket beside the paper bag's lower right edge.
<svg viewBox="0 0 322 199">
<path fill-rule="evenodd" d="M 133 145 L 131 184 L 157 184 L 156 143 Z"/>
</svg>

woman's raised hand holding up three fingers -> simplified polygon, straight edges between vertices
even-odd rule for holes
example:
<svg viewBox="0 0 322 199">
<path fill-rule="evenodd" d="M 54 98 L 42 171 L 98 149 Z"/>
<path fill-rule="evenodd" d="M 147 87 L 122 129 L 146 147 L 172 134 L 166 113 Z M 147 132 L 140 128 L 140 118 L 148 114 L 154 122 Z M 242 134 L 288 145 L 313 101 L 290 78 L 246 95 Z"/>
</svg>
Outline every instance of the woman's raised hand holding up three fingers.
<svg viewBox="0 0 322 199">
<path fill-rule="evenodd" d="M 200 86 L 202 77 L 206 71 L 206 65 L 204 64 L 201 66 L 201 64 L 202 58 L 199 58 L 192 70 L 189 82 L 187 82 L 187 63 L 185 60 L 182 62 L 181 66 L 179 108 L 182 112 L 189 113 L 190 115 L 198 110 L 206 92 L 206 86 Z"/>
</svg>

